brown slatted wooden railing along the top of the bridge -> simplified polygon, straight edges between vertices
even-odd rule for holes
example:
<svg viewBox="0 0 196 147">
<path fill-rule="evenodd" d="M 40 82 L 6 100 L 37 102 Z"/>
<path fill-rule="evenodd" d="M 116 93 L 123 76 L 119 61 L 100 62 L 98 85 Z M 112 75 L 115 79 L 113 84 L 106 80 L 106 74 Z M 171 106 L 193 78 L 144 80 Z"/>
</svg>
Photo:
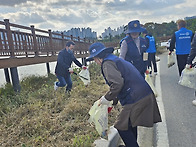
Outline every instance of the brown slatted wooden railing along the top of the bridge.
<svg viewBox="0 0 196 147">
<path fill-rule="evenodd" d="M 68 40 L 76 43 L 77 54 L 78 52 L 88 54 L 88 46 L 93 42 L 51 30 L 35 29 L 34 26 L 13 24 L 8 19 L 0 21 L 0 25 L 5 26 L 5 29 L 0 29 L 0 56 L 56 55 L 56 52 L 65 47 L 65 42 Z"/>
</svg>

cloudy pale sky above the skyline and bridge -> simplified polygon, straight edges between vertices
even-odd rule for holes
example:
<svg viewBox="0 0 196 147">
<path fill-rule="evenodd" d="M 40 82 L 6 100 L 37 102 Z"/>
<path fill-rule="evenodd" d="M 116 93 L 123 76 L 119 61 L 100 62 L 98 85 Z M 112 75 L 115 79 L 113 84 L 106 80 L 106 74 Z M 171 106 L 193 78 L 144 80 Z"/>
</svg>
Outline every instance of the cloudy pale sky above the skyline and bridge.
<svg viewBox="0 0 196 147">
<path fill-rule="evenodd" d="M 87 28 L 98 35 L 132 20 L 163 23 L 196 15 L 195 0 L 0 0 L 0 21 L 52 31 Z"/>
</svg>

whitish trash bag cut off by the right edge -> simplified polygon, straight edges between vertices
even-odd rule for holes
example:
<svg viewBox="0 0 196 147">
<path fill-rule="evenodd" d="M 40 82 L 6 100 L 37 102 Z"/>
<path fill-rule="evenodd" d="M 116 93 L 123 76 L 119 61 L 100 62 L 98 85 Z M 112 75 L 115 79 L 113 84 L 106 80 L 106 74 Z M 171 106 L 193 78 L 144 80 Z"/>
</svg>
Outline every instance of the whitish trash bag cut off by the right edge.
<svg viewBox="0 0 196 147">
<path fill-rule="evenodd" d="M 196 89 L 196 67 L 187 69 L 185 68 L 182 71 L 180 80 L 178 82 L 180 85 Z"/>
</svg>

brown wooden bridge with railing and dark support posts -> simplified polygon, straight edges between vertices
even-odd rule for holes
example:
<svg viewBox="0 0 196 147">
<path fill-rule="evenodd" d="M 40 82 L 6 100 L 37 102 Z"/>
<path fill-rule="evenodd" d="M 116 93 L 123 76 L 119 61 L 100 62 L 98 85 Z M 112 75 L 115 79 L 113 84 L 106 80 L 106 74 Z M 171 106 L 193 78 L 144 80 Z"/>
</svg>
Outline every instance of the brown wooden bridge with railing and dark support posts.
<svg viewBox="0 0 196 147">
<path fill-rule="evenodd" d="M 89 56 L 88 48 L 95 40 L 81 39 L 56 33 L 52 30 L 41 30 L 10 23 L 9 19 L 0 21 L 0 69 L 4 69 L 5 78 L 10 83 L 10 68 L 12 83 L 15 90 L 18 91 L 18 66 L 46 63 L 49 70 L 49 62 L 57 60 L 58 52 L 65 48 L 66 41 L 75 42 L 74 54 L 76 58 L 82 58 L 85 64 L 85 58 Z M 106 47 L 117 45 L 114 43 L 105 43 Z"/>
</svg>

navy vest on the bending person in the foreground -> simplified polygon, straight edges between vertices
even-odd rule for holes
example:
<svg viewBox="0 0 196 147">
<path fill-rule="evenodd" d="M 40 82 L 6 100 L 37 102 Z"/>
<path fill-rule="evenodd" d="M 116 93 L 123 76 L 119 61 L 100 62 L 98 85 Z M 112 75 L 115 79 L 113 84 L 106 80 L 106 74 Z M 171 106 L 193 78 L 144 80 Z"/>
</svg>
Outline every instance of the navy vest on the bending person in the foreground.
<svg viewBox="0 0 196 147">
<path fill-rule="evenodd" d="M 103 60 L 102 65 L 107 60 L 115 62 L 117 70 L 120 71 L 124 79 L 124 85 L 117 96 L 121 105 L 135 103 L 145 96 L 153 93 L 145 79 L 131 63 L 110 54 Z M 104 75 L 103 67 L 101 69 L 106 83 L 110 85 Z"/>
</svg>

